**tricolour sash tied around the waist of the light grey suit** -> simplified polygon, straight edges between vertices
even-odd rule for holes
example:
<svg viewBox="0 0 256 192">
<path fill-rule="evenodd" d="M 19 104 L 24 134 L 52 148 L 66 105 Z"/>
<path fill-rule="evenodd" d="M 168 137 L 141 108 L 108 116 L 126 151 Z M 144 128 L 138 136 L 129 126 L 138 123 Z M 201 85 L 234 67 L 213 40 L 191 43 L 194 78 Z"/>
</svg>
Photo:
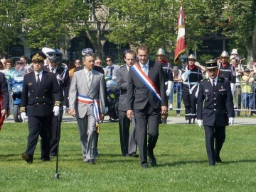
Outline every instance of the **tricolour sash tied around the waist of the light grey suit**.
<svg viewBox="0 0 256 192">
<path fill-rule="evenodd" d="M 98 108 L 98 99 L 92 99 L 89 96 L 82 96 L 78 94 L 78 102 L 86 103 L 90 107 L 90 111 L 92 112 L 93 117 L 96 120 L 96 127 L 100 125 L 100 115 L 99 115 L 99 108 Z"/>
</svg>

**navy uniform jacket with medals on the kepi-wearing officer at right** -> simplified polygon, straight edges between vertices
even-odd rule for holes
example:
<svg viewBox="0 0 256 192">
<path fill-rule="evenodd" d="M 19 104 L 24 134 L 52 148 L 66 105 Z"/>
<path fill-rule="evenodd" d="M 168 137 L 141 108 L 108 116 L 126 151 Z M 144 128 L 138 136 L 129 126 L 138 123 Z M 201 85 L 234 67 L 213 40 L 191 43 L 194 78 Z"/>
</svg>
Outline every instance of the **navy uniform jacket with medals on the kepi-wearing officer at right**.
<svg viewBox="0 0 256 192">
<path fill-rule="evenodd" d="M 203 125 L 213 127 L 228 125 L 228 118 L 235 117 L 228 79 L 219 77 L 215 90 L 209 79 L 202 80 L 199 84 L 197 110 L 197 119 L 203 120 Z"/>
</svg>

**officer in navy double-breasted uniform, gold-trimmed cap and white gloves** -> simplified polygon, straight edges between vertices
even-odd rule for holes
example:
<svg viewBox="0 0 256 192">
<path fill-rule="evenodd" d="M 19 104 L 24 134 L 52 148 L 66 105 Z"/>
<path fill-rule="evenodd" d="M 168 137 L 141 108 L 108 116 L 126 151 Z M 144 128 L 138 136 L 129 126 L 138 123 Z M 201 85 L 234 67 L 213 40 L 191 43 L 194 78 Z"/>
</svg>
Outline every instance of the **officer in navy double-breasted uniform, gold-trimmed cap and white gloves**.
<svg viewBox="0 0 256 192">
<path fill-rule="evenodd" d="M 21 118 L 28 115 L 28 146 L 22 154 L 27 163 L 33 162 L 33 154 L 41 136 L 41 160 L 50 160 L 50 129 L 55 116 L 59 113 L 60 94 L 55 74 L 43 71 L 46 55 L 36 52 L 31 55 L 34 72 L 25 75 L 21 94 Z M 55 103 L 53 103 L 55 101 Z M 54 106 L 54 107 L 53 107 Z"/>
</svg>

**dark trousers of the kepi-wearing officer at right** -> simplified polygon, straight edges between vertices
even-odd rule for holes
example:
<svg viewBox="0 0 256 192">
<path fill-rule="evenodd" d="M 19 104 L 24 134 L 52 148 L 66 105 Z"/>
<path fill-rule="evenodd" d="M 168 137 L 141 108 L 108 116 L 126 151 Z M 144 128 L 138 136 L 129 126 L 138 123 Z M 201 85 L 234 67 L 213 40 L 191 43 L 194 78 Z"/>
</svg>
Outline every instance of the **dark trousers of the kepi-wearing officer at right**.
<svg viewBox="0 0 256 192">
<path fill-rule="evenodd" d="M 206 135 L 206 152 L 209 164 L 215 164 L 215 157 L 220 155 L 220 150 L 225 142 L 225 127 L 204 126 Z M 214 149 L 215 139 L 215 149 Z"/>
</svg>

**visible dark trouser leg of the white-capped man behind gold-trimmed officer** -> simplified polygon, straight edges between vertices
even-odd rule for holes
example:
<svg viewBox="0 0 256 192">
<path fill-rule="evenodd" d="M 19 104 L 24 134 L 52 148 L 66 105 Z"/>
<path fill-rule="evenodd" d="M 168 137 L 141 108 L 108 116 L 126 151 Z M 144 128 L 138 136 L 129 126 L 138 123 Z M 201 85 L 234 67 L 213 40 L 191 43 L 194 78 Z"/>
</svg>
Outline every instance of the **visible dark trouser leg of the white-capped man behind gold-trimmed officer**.
<svg viewBox="0 0 256 192">
<path fill-rule="evenodd" d="M 50 156 L 57 155 L 58 145 L 58 116 L 53 115 L 53 124 L 50 132 Z"/>
</svg>

